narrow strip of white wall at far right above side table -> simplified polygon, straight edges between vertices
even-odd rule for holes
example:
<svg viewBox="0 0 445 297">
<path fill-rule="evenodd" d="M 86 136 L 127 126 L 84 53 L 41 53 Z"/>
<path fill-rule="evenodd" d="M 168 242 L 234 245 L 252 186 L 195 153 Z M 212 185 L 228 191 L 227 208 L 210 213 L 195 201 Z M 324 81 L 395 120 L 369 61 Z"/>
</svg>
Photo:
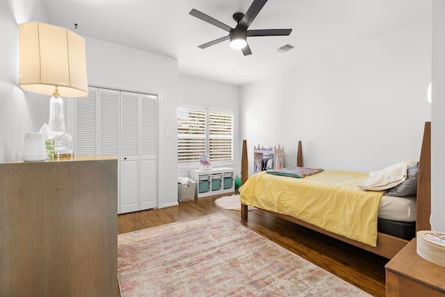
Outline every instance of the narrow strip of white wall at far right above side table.
<svg viewBox="0 0 445 297">
<path fill-rule="evenodd" d="M 445 232 L 445 1 L 432 1 L 431 226 Z"/>
</svg>

